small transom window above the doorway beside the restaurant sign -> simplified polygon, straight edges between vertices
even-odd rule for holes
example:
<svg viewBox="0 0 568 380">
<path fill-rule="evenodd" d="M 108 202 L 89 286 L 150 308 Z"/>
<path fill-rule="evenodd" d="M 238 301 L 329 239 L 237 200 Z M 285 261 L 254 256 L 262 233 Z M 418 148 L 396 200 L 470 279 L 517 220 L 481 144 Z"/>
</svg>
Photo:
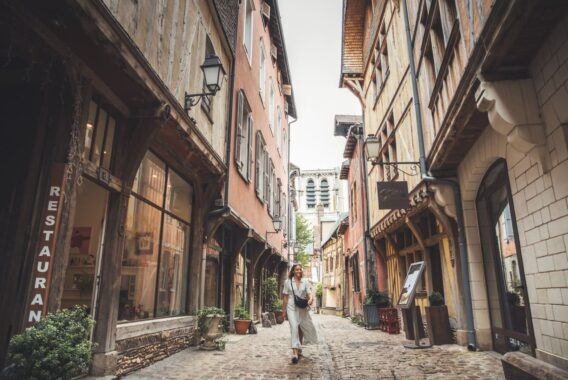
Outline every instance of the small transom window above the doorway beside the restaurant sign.
<svg viewBox="0 0 568 380">
<path fill-rule="evenodd" d="M 108 110 L 91 100 L 85 128 L 83 158 L 97 166 L 110 169 L 115 130 L 116 119 Z"/>
</svg>

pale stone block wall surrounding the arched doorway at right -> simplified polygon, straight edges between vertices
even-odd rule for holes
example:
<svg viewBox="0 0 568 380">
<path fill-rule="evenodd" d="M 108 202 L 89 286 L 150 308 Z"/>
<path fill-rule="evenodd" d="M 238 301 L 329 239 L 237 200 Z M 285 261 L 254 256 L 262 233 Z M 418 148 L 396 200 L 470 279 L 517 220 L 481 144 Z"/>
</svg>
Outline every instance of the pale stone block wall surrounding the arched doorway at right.
<svg viewBox="0 0 568 380">
<path fill-rule="evenodd" d="M 568 367 L 568 19 L 559 23 L 531 64 L 533 95 L 524 103 L 496 98 L 525 113 L 536 103 L 542 154 L 520 152 L 488 126 L 459 167 L 478 344 L 491 348 L 489 312 L 475 197 L 484 174 L 505 158 L 513 194 L 536 355 Z M 528 113 L 528 111 L 526 111 Z M 517 128 L 515 125 L 514 128 Z M 531 127 L 535 128 L 535 127 Z M 536 140 L 535 140 L 536 141 Z"/>
</svg>

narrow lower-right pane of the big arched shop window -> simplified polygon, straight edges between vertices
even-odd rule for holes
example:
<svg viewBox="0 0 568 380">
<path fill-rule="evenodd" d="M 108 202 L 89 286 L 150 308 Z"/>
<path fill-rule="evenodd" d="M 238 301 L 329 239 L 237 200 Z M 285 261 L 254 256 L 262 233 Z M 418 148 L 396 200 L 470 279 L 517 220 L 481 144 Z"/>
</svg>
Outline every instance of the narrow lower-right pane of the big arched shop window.
<svg viewBox="0 0 568 380">
<path fill-rule="evenodd" d="M 189 226 L 165 215 L 158 278 L 158 317 L 185 313 L 188 245 Z"/>
</svg>

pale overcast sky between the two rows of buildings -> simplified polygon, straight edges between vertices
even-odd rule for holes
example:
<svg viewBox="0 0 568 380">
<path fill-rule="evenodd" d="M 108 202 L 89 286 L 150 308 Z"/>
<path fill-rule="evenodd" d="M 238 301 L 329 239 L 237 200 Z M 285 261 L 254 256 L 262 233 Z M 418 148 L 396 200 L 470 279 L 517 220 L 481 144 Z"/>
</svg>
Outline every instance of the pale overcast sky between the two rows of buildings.
<svg viewBox="0 0 568 380">
<path fill-rule="evenodd" d="M 329 169 L 343 161 L 344 137 L 333 136 L 336 114 L 360 115 L 339 88 L 342 0 L 278 2 L 298 121 L 290 126 L 290 161 L 300 169 Z"/>
</svg>

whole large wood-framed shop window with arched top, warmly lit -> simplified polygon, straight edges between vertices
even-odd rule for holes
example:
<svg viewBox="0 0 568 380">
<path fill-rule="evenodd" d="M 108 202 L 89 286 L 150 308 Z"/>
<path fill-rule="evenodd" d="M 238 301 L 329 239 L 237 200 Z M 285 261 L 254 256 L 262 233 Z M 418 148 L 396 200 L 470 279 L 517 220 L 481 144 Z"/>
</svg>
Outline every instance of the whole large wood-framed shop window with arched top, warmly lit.
<svg viewBox="0 0 568 380">
<path fill-rule="evenodd" d="M 185 313 L 193 188 L 148 152 L 132 188 L 119 320 Z"/>
</svg>

